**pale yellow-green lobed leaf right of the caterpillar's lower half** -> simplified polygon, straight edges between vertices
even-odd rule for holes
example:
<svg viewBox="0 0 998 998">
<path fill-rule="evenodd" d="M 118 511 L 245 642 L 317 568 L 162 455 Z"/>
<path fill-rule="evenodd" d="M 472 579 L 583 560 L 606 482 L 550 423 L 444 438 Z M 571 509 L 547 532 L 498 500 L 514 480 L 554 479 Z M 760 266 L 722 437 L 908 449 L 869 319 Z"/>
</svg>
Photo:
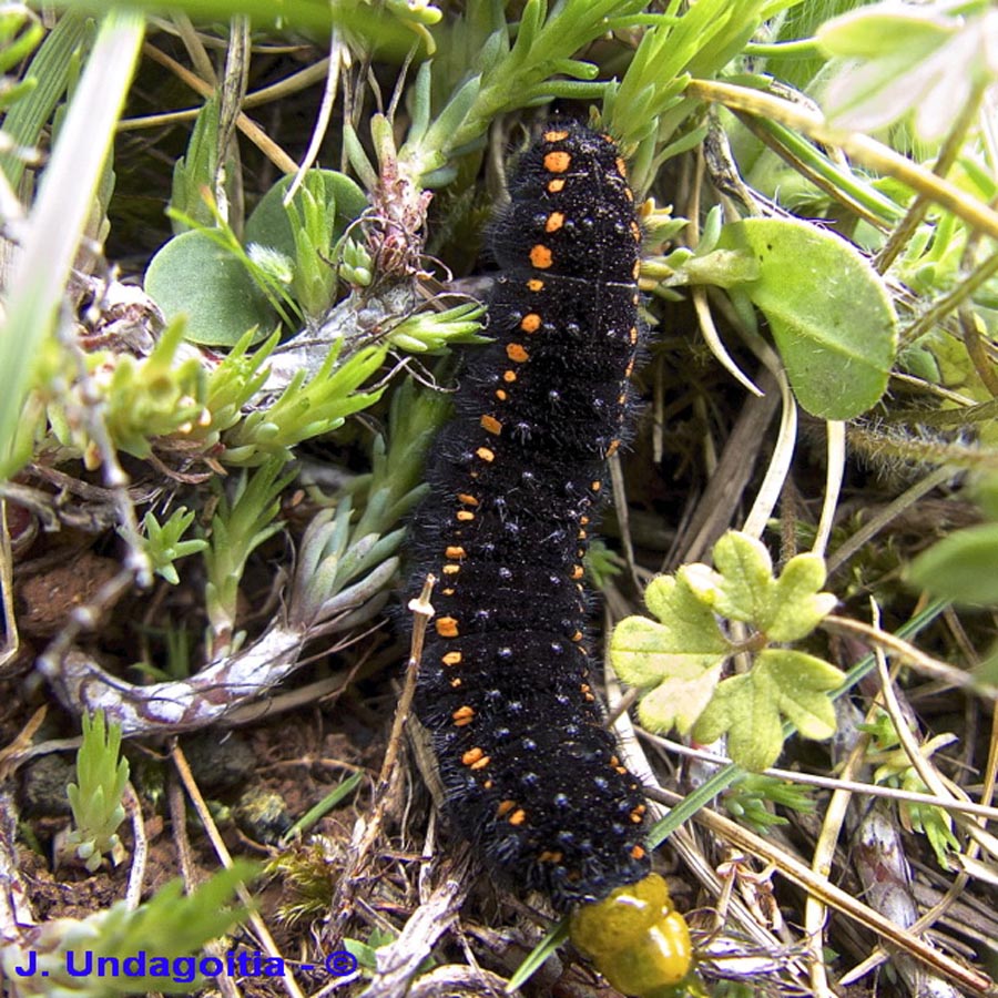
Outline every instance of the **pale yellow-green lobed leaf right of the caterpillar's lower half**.
<svg viewBox="0 0 998 998">
<path fill-rule="evenodd" d="M 801 719 L 809 737 L 827 737 L 829 717 L 834 730 L 827 700 L 815 706 L 813 690 L 805 689 L 798 704 L 793 689 L 781 699 L 777 688 L 785 681 L 787 663 L 807 673 L 812 688 L 831 682 L 834 674 L 834 689 L 841 683 L 838 671 L 824 672 L 832 666 L 800 652 L 768 650 L 756 658 L 751 673 L 717 685 L 721 666 L 734 649 L 714 619 L 720 614 L 750 624 L 758 632 L 753 642 L 795 641 L 809 634 L 835 604 L 832 593 L 818 591 L 825 581 L 824 562 L 816 554 L 800 554 L 774 579 L 765 546 L 737 531 L 717 541 L 713 557 L 716 570 L 686 564 L 674 577 L 660 577 L 649 585 L 645 602 L 661 623 L 630 617 L 614 629 L 610 658 L 618 675 L 649 690 L 638 705 L 641 722 L 652 731 L 675 726 L 682 733 L 695 724 L 697 732 L 714 732 L 715 737 L 731 727 L 741 746 L 732 751 L 756 763 L 778 754 L 781 715 Z M 752 725 L 743 727 L 740 719 L 748 710 L 746 703 L 756 700 L 751 709 L 757 729 L 753 734 Z"/>
</svg>

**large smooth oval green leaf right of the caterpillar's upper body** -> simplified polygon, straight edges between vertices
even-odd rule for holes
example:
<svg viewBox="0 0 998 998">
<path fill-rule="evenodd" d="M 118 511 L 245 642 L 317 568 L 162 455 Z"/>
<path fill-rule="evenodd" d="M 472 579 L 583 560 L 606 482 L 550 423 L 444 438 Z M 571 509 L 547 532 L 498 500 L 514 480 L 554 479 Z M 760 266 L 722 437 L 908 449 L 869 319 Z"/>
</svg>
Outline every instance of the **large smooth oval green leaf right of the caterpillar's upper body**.
<svg viewBox="0 0 998 998">
<path fill-rule="evenodd" d="M 851 419 L 887 387 L 897 317 L 882 278 L 848 243 L 796 220 L 725 225 L 720 249 L 740 249 L 758 278 L 736 285 L 765 314 L 801 405 Z"/>
</svg>

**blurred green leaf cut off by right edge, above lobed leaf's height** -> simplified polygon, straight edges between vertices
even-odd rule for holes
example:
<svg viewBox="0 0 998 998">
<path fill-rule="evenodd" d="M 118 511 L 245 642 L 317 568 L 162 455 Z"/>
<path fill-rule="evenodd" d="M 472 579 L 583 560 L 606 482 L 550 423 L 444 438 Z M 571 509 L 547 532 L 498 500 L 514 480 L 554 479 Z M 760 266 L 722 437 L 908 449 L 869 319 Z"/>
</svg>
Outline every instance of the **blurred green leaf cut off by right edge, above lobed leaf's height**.
<svg viewBox="0 0 998 998">
<path fill-rule="evenodd" d="M 982 607 L 998 603 L 998 523 L 957 530 L 919 554 L 908 580 L 933 595 Z"/>
</svg>

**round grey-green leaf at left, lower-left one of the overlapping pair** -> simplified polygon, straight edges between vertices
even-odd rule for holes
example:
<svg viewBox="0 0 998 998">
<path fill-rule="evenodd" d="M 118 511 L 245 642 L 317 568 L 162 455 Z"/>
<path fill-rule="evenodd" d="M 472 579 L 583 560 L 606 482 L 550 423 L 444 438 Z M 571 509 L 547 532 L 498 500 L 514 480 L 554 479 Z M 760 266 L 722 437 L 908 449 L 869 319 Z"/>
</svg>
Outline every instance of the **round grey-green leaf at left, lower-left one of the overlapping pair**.
<svg viewBox="0 0 998 998">
<path fill-rule="evenodd" d="M 186 317 L 184 335 L 193 343 L 235 346 L 254 327 L 255 343 L 278 323 L 246 267 L 202 231 L 182 233 L 156 253 L 145 291 L 167 320 Z"/>
</svg>

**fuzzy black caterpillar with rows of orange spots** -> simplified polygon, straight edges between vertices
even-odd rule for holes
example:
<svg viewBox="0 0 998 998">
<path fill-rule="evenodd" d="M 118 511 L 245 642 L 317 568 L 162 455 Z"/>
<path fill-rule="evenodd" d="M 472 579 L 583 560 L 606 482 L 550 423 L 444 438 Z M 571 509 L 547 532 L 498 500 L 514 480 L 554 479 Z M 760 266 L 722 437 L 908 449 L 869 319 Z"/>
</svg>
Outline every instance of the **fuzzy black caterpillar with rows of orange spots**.
<svg viewBox="0 0 998 998">
<path fill-rule="evenodd" d="M 613 143 L 549 124 L 492 230 L 493 342 L 467 360 L 413 525 L 439 581 L 415 710 L 451 822 L 561 909 L 649 870 L 645 805 L 590 685 L 582 560 L 640 339 L 641 231 Z"/>
</svg>

